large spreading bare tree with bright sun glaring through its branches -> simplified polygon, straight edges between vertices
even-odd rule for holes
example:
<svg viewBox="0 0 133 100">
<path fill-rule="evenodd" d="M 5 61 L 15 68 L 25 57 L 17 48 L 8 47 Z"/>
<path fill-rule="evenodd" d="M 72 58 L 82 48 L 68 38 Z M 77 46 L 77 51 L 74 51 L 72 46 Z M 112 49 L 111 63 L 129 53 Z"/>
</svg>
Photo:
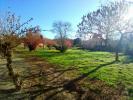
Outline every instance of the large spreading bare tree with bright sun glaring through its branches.
<svg viewBox="0 0 133 100">
<path fill-rule="evenodd" d="M 105 47 L 109 47 L 110 40 L 118 40 L 118 44 L 115 47 L 115 60 L 118 61 L 119 45 L 123 34 L 132 31 L 130 21 L 124 21 L 124 16 L 128 8 L 129 3 L 125 0 L 101 5 L 97 11 L 83 16 L 82 22 L 78 25 L 79 34 L 81 34 L 81 36 L 86 34 L 102 34 L 103 38 L 105 38 Z M 118 37 L 120 37 L 120 39 L 118 39 Z"/>
</svg>

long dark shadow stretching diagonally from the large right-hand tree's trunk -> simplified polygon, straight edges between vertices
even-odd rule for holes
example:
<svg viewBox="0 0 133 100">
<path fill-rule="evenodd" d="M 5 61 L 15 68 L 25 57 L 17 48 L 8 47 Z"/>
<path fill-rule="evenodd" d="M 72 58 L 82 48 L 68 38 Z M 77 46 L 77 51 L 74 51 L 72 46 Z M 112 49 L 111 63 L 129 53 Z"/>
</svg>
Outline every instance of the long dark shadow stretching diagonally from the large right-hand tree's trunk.
<svg viewBox="0 0 133 100">
<path fill-rule="evenodd" d="M 35 90 L 35 91 L 29 91 L 29 93 L 31 94 L 30 98 L 36 98 L 37 96 L 41 95 L 41 94 L 45 94 L 45 93 L 49 93 L 48 95 L 45 95 L 46 98 L 45 100 L 51 100 L 51 98 L 53 98 L 54 96 L 56 96 L 57 94 L 59 93 L 62 93 L 63 91 L 69 91 L 70 92 L 76 92 L 78 94 L 78 98 L 80 100 L 80 97 L 82 96 L 82 94 L 85 93 L 84 90 L 82 90 L 80 87 L 77 86 L 77 83 L 81 80 L 83 80 L 84 78 L 88 77 L 90 74 L 92 73 L 95 73 L 96 71 L 98 71 L 100 68 L 104 67 L 104 66 L 107 66 L 107 65 L 111 65 L 115 63 L 114 61 L 113 62 L 109 62 L 107 64 L 102 64 L 102 65 L 99 65 L 97 66 L 95 69 L 89 71 L 88 73 L 85 73 L 85 74 L 82 74 L 81 76 L 75 78 L 75 79 L 72 79 L 68 82 L 65 82 L 65 83 L 62 83 L 60 84 L 60 86 L 49 86 L 48 88 L 46 88 L 46 86 L 44 86 L 44 88 L 40 85 L 37 85 L 37 87 L 40 88 L 40 90 Z M 66 70 L 68 71 L 68 70 Z M 63 74 L 65 71 L 62 71 L 61 74 Z M 59 75 L 61 75 L 59 74 Z M 55 78 L 58 78 L 58 77 L 55 77 Z M 36 86 L 33 86 L 33 87 L 36 87 Z M 52 92 L 50 92 L 52 91 Z"/>
</svg>

